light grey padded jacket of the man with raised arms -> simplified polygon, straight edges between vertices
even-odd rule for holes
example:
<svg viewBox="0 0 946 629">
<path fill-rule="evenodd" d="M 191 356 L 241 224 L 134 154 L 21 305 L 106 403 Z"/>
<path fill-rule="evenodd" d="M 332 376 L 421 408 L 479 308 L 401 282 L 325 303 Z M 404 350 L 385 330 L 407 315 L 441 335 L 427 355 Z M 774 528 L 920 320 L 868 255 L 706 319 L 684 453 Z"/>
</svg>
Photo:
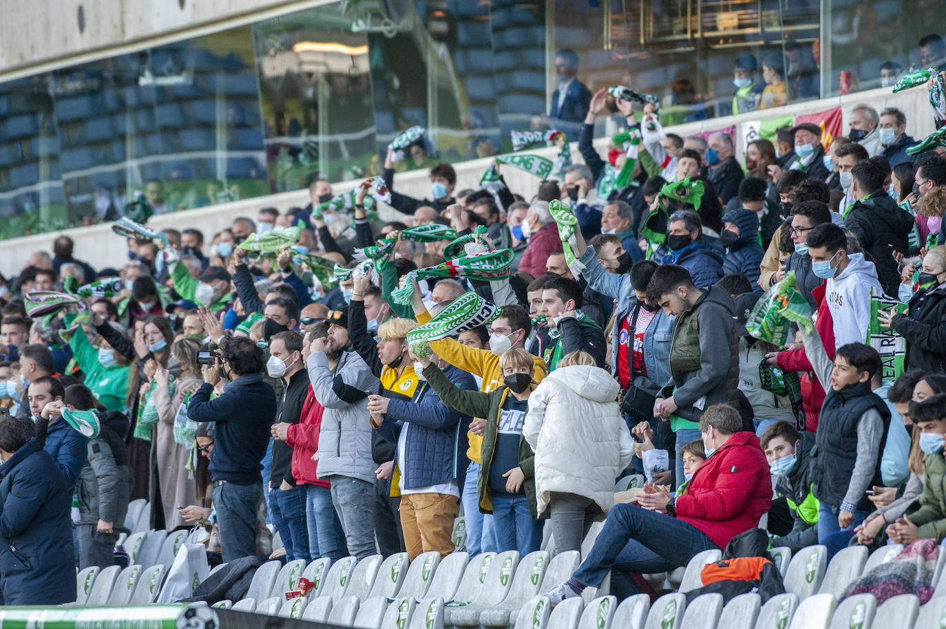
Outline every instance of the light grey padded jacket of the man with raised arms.
<svg viewBox="0 0 946 629">
<path fill-rule="evenodd" d="M 307 368 L 312 393 L 325 408 L 319 432 L 319 478 L 338 475 L 374 482 L 377 463 L 371 455 L 368 393 L 377 393 L 380 381 L 351 351 L 342 352 L 333 370 L 323 353 L 313 353 Z"/>
</svg>

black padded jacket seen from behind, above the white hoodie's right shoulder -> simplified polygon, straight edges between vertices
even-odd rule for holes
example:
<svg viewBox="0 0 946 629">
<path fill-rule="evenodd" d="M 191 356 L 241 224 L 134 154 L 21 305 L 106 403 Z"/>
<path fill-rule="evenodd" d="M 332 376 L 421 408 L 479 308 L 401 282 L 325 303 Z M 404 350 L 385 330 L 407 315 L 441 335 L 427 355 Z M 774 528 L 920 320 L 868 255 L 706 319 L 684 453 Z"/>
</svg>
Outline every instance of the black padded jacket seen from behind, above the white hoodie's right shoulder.
<svg viewBox="0 0 946 629">
<path fill-rule="evenodd" d="M 888 295 L 896 295 L 900 272 L 894 252 L 910 252 L 907 238 L 913 229 L 914 218 L 884 190 L 877 190 L 861 201 L 856 201 L 844 219 L 864 251 L 870 254 L 877 267 L 877 279 Z"/>
</svg>

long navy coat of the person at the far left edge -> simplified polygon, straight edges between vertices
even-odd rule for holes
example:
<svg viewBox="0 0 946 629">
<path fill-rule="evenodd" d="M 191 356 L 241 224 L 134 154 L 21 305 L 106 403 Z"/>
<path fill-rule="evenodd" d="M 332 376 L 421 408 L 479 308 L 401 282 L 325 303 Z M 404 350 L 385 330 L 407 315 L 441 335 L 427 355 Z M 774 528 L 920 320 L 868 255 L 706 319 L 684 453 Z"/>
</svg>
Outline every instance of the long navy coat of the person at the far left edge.
<svg viewBox="0 0 946 629">
<path fill-rule="evenodd" d="M 35 439 L 0 465 L 0 587 L 5 604 L 76 600 L 72 492 L 56 469 Z"/>
</svg>

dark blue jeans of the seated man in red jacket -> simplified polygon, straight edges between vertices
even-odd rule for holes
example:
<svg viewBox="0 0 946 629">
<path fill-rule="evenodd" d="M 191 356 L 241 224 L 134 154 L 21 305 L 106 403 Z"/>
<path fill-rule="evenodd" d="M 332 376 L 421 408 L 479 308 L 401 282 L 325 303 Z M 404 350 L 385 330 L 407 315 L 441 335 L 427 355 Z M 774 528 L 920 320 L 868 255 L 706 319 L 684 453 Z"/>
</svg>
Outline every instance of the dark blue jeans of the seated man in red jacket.
<svg viewBox="0 0 946 629">
<path fill-rule="evenodd" d="M 691 524 L 636 504 L 616 504 L 574 578 L 598 587 L 608 570 L 614 568 L 613 584 L 618 571 L 663 572 L 686 566 L 696 553 L 716 548 L 719 547 L 705 533 Z M 628 590 L 626 594 L 639 593 L 629 579 L 621 582 Z"/>
</svg>

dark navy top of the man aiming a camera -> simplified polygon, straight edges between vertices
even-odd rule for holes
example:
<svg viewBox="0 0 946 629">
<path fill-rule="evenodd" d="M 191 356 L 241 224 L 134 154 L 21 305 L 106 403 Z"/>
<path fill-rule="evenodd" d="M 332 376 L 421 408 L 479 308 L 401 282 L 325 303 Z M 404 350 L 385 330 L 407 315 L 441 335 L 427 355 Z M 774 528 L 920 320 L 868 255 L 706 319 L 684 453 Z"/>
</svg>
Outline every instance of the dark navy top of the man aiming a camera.
<svg viewBox="0 0 946 629">
<path fill-rule="evenodd" d="M 216 422 L 210 478 L 238 485 L 260 482 L 262 461 L 270 445 L 270 426 L 276 416 L 276 394 L 262 374 L 239 376 L 227 382 L 223 394 L 210 399 L 213 386 L 204 382 L 187 405 L 195 422 Z"/>
</svg>

